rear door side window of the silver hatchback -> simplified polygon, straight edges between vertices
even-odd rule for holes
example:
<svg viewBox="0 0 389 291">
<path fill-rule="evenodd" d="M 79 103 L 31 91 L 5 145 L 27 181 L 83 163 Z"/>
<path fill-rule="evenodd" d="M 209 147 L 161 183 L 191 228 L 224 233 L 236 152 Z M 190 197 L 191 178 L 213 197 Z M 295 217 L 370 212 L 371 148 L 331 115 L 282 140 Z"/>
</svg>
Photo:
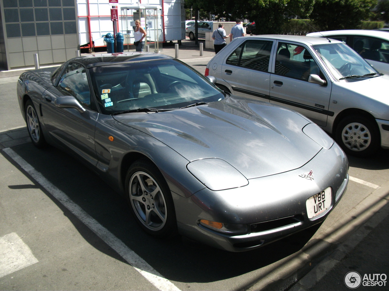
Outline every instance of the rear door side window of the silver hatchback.
<svg viewBox="0 0 389 291">
<path fill-rule="evenodd" d="M 228 58 L 226 64 L 268 72 L 272 41 L 247 40 Z"/>
</svg>

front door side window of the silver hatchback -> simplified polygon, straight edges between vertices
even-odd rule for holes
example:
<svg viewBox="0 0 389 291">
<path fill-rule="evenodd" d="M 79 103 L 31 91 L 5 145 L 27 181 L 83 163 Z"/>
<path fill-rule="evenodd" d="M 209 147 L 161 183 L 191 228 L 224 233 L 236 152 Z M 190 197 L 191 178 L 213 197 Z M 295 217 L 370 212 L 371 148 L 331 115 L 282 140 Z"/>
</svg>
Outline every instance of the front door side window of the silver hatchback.
<svg viewBox="0 0 389 291">
<path fill-rule="evenodd" d="M 307 81 L 310 74 L 320 75 L 320 69 L 307 48 L 279 43 L 274 73 Z"/>
</svg>

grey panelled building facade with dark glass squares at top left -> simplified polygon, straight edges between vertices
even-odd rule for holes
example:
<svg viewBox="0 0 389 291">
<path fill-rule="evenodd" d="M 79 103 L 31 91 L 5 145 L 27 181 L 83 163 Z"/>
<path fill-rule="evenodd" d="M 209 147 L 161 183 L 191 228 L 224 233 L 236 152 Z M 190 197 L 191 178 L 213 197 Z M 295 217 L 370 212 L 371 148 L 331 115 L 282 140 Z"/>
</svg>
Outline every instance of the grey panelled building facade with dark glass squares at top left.
<svg viewBox="0 0 389 291">
<path fill-rule="evenodd" d="M 0 0 L 0 68 L 65 62 L 79 49 L 75 0 Z"/>
</svg>

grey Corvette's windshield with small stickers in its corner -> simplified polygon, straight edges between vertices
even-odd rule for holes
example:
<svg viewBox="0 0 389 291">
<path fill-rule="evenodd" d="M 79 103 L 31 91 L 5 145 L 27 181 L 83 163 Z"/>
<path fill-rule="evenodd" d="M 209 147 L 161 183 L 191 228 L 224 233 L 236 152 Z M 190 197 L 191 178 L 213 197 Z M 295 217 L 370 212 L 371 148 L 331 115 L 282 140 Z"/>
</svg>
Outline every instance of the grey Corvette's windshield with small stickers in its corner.
<svg viewBox="0 0 389 291">
<path fill-rule="evenodd" d="M 172 59 L 99 66 L 89 74 L 105 114 L 160 112 L 224 99 L 204 76 Z"/>
</svg>

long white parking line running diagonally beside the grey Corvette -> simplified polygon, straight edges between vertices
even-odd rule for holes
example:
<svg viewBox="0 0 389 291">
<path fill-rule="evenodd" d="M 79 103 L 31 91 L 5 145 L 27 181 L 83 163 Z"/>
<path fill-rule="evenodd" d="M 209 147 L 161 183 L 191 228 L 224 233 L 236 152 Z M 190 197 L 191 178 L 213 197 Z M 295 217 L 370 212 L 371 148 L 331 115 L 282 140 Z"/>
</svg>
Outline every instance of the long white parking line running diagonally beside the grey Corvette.
<svg viewBox="0 0 389 291">
<path fill-rule="evenodd" d="M 134 251 L 128 248 L 120 239 L 114 236 L 109 230 L 100 225 L 94 218 L 86 213 L 80 206 L 75 204 L 64 192 L 51 184 L 45 177 L 28 164 L 21 156 L 10 148 L 3 149 L 23 170 L 33 177 L 42 187 L 53 195 L 63 206 L 71 211 L 82 223 L 89 227 L 98 237 L 114 249 L 124 260 L 142 274 L 147 281 L 153 284 L 159 290 L 180 291 L 168 279 L 164 278 L 159 272 L 154 270 L 145 260 L 138 256 Z"/>
</svg>

